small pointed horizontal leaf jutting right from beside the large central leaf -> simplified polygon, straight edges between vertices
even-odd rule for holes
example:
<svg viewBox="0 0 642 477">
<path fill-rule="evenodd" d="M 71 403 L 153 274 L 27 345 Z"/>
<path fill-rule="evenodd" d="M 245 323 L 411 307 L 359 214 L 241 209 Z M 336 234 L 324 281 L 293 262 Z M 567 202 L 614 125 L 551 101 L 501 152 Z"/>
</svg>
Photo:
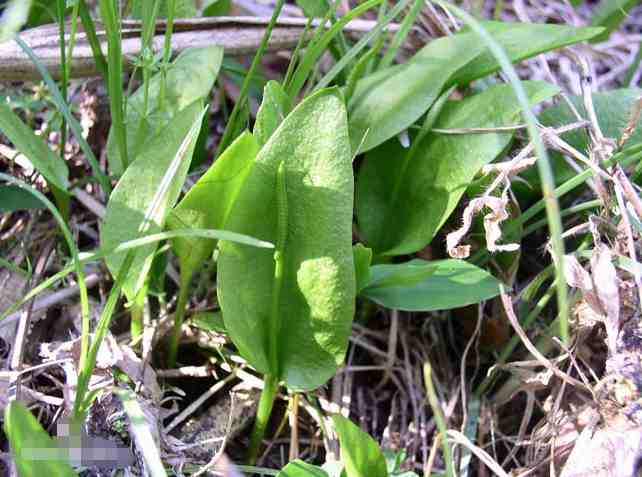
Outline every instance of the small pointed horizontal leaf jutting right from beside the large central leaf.
<svg viewBox="0 0 642 477">
<path fill-rule="evenodd" d="M 415 259 L 370 267 L 370 281 L 360 295 L 396 310 L 449 310 L 493 298 L 499 285 L 491 274 L 463 260 Z"/>
</svg>

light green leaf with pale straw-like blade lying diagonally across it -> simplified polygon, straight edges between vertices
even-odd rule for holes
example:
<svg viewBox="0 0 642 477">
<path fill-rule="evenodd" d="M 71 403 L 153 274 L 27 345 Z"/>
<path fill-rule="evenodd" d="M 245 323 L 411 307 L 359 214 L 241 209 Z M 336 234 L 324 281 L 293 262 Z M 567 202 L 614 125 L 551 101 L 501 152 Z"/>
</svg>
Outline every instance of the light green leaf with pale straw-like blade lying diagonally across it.
<svg viewBox="0 0 642 477">
<path fill-rule="evenodd" d="M 200 101 L 183 109 L 147 145 L 145 150 L 127 168 L 114 189 L 107 204 L 105 221 L 101 230 L 101 247 L 110 249 L 140 237 L 140 229 L 150 204 L 161 186 L 165 173 L 175 161 L 178 168 L 162 201 L 148 218 L 148 234 L 163 229 L 170 209 L 176 203 L 185 181 L 194 144 L 203 118 Z M 123 284 L 123 292 L 133 300 L 143 285 L 152 264 L 157 244 L 144 245 L 131 265 L 132 273 Z M 109 255 L 107 267 L 112 275 L 118 275 L 127 253 Z"/>
</svg>

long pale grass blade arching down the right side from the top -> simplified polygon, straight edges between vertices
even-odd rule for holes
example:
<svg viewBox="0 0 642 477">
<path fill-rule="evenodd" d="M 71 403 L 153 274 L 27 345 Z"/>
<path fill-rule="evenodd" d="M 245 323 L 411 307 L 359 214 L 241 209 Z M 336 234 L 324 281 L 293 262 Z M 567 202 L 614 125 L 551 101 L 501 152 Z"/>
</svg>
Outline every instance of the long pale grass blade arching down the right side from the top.
<svg viewBox="0 0 642 477">
<path fill-rule="evenodd" d="M 486 29 L 464 10 L 454 6 L 451 3 L 437 0 L 442 8 L 451 11 L 466 23 L 471 30 L 476 32 L 480 39 L 487 45 L 493 56 L 502 68 L 504 74 L 515 92 L 515 96 L 522 107 L 522 114 L 526 120 L 528 135 L 535 146 L 535 153 L 537 155 L 537 167 L 539 170 L 540 181 L 542 184 L 542 194 L 544 196 L 544 203 L 546 207 L 546 216 L 548 218 L 548 226 L 551 235 L 551 244 L 553 251 L 553 260 L 555 262 L 555 277 L 557 283 L 557 306 L 559 308 L 560 316 L 560 338 L 565 344 L 569 343 L 569 315 L 568 315 L 568 291 L 566 289 L 566 281 L 564 280 L 564 241 L 562 240 L 562 220 L 560 218 L 559 204 L 555 197 L 555 178 L 548 159 L 548 153 L 544 147 L 544 142 L 537 130 L 537 121 L 535 115 L 531 111 L 528 104 L 528 97 L 526 92 L 511 64 L 504 49 L 495 41 L 495 39 L 486 31 Z"/>
</svg>

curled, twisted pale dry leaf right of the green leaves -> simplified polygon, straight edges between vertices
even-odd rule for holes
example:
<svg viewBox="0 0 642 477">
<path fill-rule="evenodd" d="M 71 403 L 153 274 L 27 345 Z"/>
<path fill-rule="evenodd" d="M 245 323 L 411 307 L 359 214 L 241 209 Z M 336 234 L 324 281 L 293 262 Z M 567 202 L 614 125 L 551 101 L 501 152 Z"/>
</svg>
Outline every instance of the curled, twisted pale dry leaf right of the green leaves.
<svg viewBox="0 0 642 477">
<path fill-rule="evenodd" d="M 459 245 L 464 239 L 473 223 L 473 218 L 484 208 L 491 212 L 484 216 L 484 231 L 486 233 L 486 247 L 489 252 L 514 252 L 519 249 L 519 244 L 498 244 L 502 238 L 502 231 L 499 227 L 508 214 L 508 196 L 506 191 L 502 197 L 479 197 L 470 201 L 464 210 L 464 224 L 458 230 L 451 232 L 446 237 L 448 254 L 453 258 L 467 258 L 470 255 L 470 245 Z"/>
</svg>

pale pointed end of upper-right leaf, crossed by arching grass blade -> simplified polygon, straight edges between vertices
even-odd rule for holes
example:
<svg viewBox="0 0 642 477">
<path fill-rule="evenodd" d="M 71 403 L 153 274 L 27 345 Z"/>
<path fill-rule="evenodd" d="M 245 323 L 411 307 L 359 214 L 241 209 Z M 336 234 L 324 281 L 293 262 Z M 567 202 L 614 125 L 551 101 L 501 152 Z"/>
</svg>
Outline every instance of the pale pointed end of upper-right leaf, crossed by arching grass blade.
<svg viewBox="0 0 642 477">
<path fill-rule="evenodd" d="M 602 28 L 570 27 L 541 23 L 481 22 L 482 26 L 506 51 L 512 62 L 589 40 L 602 32 Z M 462 68 L 449 82 L 466 84 L 499 71 L 497 59 L 488 50 Z"/>
</svg>

